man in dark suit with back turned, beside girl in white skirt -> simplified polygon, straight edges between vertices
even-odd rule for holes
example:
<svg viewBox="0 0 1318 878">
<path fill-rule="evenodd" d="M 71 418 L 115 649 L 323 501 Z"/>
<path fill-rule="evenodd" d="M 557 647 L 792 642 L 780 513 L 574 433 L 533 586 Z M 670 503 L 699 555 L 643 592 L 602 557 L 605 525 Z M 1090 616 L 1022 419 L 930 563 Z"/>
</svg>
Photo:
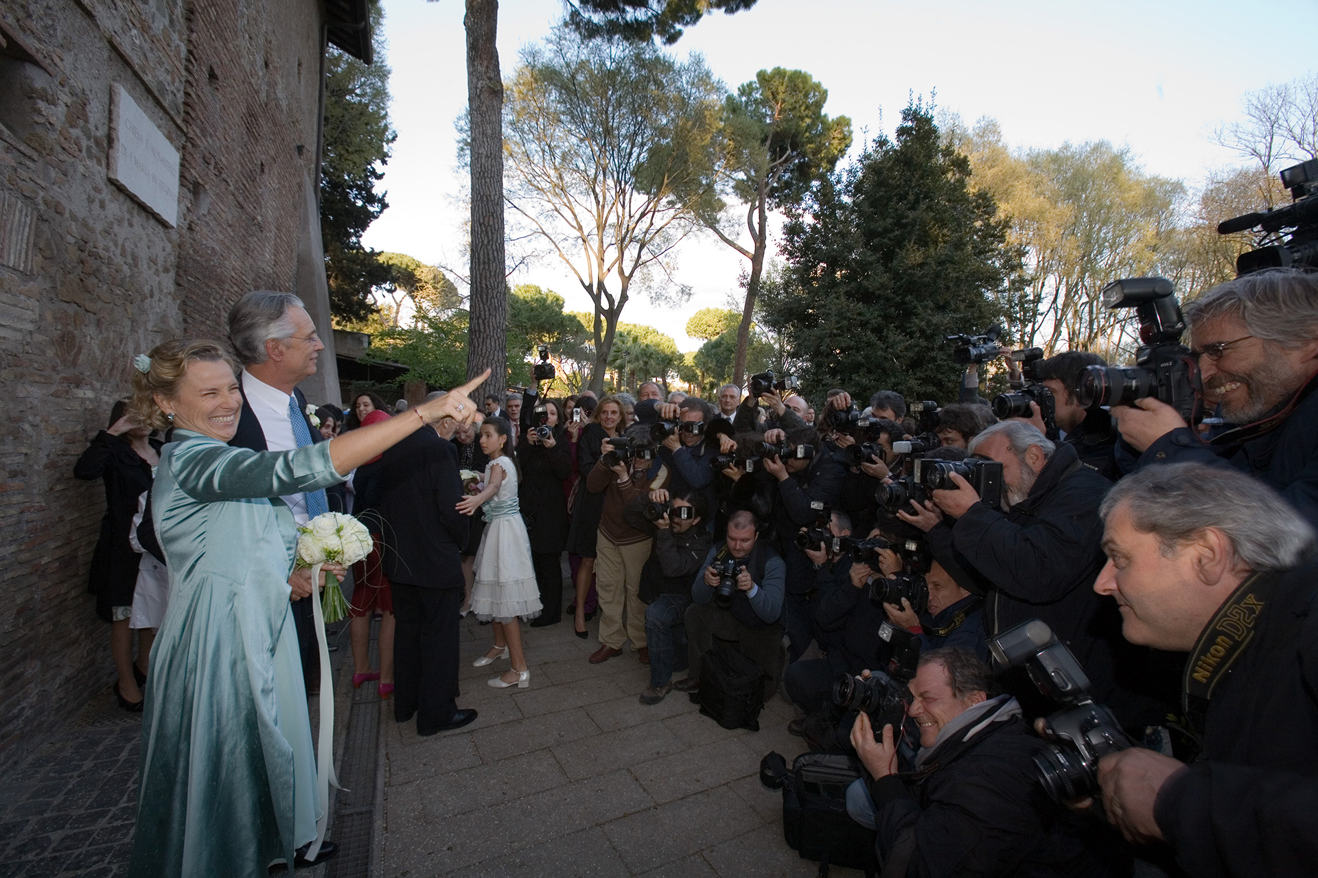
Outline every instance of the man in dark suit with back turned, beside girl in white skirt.
<svg viewBox="0 0 1318 878">
<path fill-rule="evenodd" d="M 476 711 L 457 710 L 456 700 L 461 549 L 471 527 L 471 519 L 456 508 L 461 499 L 457 450 L 438 428 L 416 430 L 381 457 L 384 569 L 398 624 L 394 719 L 406 723 L 415 715 L 418 735 L 461 728 L 476 719 Z"/>
</svg>

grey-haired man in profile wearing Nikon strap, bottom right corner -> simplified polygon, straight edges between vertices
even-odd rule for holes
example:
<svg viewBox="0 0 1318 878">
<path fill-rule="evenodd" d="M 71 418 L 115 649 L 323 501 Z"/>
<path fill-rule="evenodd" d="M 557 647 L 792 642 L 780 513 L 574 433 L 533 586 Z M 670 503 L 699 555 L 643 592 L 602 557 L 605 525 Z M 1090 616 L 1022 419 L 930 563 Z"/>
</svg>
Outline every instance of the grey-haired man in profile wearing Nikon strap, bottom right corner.
<svg viewBox="0 0 1318 878">
<path fill-rule="evenodd" d="M 1116 599 L 1135 644 L 1189 650 L 1181 699 L 1199 758 L 1103 757 L 1103 811 L 1191 875 L 1318 873 L 1318 562 L 1314 530 L 1230 470 L 1155 466 L 1103 500 Z"/>
</svg>

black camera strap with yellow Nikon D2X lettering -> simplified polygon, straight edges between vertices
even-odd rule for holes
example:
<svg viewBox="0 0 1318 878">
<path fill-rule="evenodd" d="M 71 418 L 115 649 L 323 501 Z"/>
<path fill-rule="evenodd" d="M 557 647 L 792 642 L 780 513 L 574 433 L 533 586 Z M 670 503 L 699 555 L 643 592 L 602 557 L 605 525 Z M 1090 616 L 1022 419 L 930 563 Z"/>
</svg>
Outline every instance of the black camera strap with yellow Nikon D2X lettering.
<svg viewBox="0 0 1318 878">
<path fill-rule="evenodd" d="M 1278 573 L 1253 573 L 1240 583 L 1213 616 L 1185 663 L 1182 706 L 1195 732 L 1203 731 L 1209 702 L 1235 662 L 1244 654 L 1272 600 Z"/>
</svg>

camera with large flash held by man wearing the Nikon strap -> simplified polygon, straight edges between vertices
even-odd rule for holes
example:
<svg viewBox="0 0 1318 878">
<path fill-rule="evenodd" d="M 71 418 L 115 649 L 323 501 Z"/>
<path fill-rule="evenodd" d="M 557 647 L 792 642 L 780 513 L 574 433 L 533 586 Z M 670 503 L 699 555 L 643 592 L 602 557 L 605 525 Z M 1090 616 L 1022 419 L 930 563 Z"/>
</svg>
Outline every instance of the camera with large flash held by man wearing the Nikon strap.
<svg viewBox="0 0 1318 878">
<path fill-rule="evenodd" d="M 1044 720 L 1050 744 L 1035 757 L 1044 790 L 1058 802 L 1097 794 L 1098 761 L 1133 741 L 1112 712 L 1094 702 L 1079 662 L 1039 619 L 990 637 L 988 649 L 1004 667 L 1024 665 L 1039 691 L 1065 704 Z"/>
</svg>

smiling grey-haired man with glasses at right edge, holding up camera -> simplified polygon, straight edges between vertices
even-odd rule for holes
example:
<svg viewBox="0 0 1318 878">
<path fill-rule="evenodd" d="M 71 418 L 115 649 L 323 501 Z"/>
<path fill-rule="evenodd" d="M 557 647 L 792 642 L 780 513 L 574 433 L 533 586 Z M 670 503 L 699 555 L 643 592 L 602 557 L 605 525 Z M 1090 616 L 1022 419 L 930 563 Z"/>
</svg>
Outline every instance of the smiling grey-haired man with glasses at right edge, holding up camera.
<svg viewBox="0 0 1318 878">
<path fill-rule="evenodd" d="M 1318 524 L 1318 275 L 1259 271 L 1185 305 L 1206 405 L 1232 429 L 1205 442 L 1157 399 L 1114 405 L 1139 466 L 1230 466 L 1272 486 Z"/>
</svg>

